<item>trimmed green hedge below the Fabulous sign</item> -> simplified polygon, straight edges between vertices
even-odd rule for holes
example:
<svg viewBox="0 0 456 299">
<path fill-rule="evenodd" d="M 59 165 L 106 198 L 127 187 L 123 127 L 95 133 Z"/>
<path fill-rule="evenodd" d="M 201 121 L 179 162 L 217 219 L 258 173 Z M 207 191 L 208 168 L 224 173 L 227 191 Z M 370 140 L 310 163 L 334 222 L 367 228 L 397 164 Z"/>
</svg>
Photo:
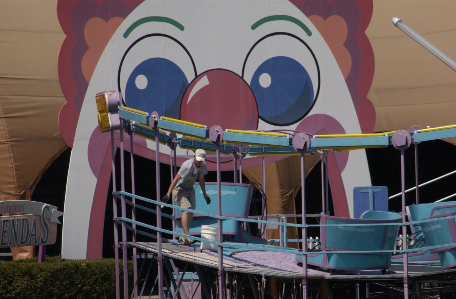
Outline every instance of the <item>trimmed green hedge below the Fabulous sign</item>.
<svg viewBox="0 0 456 299">
<path fill-rule="evenodd" d="M 119 262 L 120 294 L 123 297 L 123 268 Z M 129 289 L 133 289 L 133 263 L 128 262 Z M 115 298 L 115 260 L 67 260 L 46 257 L 0 261 L 0 298 L 95 299 Z"/>
</svg>

